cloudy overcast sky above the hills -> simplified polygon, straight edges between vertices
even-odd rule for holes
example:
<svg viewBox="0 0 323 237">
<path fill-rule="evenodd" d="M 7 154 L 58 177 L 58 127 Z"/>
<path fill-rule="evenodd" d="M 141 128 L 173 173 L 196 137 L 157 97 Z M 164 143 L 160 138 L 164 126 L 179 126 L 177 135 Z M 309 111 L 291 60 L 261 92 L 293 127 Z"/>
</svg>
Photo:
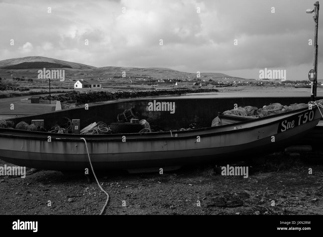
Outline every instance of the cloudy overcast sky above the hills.
<svg viewBox="0 0 323 237">
<path fill-rule="evenodd" d="M 314 44 L 313 14 L 305 11 L 314 3 L 0 0 L 0 60 L 45 56 L 96 67 L 164 67 L 244 78 L 259 78 L 259 70 L 268 68 L 286 70 L 287 80 L 304 80 L 313 67 L 308 40 Z M 321 11 L 318 45 L 323 42 Z"/>
</svg>

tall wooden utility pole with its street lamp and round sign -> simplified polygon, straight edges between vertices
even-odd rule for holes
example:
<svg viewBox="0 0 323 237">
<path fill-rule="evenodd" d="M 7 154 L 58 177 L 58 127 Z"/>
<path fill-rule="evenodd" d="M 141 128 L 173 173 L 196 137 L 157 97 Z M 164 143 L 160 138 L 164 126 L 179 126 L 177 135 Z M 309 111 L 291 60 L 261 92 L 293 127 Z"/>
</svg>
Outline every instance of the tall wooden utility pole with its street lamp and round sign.
<svg viewBox="0 0 323 237">
<path fill-rule="evenodd" d="M 314 52 L 313 52 L 313 70 L 314 70 L 314 76 L 313 74 L 310 75 L 309 73 L 309 78 L 311 77 L 314 79 L 311 83 L 311 100 L 314 101 L 316 97 L 316 90 L 317 90 L 317 73 L 318 73 L 318 10 L 319 10 L 319 4 L 318 1 L 314 4 L 314 9 L 307 9 L 306 13 L 313 13 L 313 20 L 315 22 L 315 27 L 314 27 Z M 311 71 L 310 71 L 311 72 Z"/>
</svg>

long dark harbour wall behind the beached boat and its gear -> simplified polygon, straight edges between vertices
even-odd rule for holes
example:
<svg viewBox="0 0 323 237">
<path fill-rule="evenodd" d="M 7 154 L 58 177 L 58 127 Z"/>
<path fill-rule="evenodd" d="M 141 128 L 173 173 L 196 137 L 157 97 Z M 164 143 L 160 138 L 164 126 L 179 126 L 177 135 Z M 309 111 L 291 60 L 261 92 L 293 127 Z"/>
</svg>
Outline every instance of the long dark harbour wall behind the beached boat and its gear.
<svg viewBox="0 0 323 237">
<path fill-rule="evenodd" d="M 202 97 L 202 96 L 201 96 Z M 321 99 L 321 98 L 317 98 Z M 148 103 L 157 102 L 175 103 L 174 113 L 170 111 L 148 111 Z M 255 106 L 262 108 L 264 105 L 281 103 L 305 103 L 309 97 L 247 97 L 247 98 L 186 98 L 185 96 L 160 96 L 154 98 L 138 98 L 120 101 L 109 101 L 104 104 L 90 104 L 89 109 L 76 107 L 56 111 L 54 113 L 37 114 L 11 119 L 15 123 L 43 119 L 45 127 L 65 123 L 64 117 L 80 119 L 80 127 L 84 128 L 91 123 L 103 121 L 106 124 L 116 122 L 117 115 L 124 110 L 133 108 L 139 113 L 140 119 L 147 120 L 151 125 L 158 125 L 169 131 L 171 129 L 187 128 L 195 123 L 197 127 L 210 127 L 212 120 L 218 112 L 224 112 L 237 106 Z"/>
</svg>

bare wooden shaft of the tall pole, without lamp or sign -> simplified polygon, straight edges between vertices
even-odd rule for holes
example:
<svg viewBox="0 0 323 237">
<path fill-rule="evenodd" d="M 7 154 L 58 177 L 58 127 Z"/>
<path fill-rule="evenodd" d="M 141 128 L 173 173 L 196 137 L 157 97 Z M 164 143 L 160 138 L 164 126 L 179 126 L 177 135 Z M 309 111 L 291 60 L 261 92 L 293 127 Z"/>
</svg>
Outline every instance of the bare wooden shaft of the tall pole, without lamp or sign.
<svg viewBox="0 0 323 237">
<path fill-rule="evenodd" d="M 314 28 L 313 69 L 316 72 L 316 79 L 314 80 L 313 87 L 312 87 L 312 94 L 311 94 L 312 101 L 315 100 L 316 89 L 318 84 L 318 10 L 319 10 L 318 1 L 314 4 L 314 6 L 315 6 L 315 15 L 313 16 L 313 19 L 315 22 L 315 28 Z"/>
</svg>

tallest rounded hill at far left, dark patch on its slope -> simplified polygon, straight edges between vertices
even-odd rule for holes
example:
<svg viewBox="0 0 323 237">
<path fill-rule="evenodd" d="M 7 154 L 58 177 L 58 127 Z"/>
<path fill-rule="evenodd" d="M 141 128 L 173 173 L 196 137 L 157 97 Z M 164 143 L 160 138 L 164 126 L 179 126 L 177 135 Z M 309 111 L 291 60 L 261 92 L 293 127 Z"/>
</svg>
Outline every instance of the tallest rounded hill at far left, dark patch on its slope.
<svg viewBox="0 0 323 237">
<path fill-rule="evenodd" d="M 57 64 L 57 68 L 62 68 L 62 67 L 68 67 L 68 68 L 74 68 L 74 69 L 89 69 L 89 68 L 96 68 L 93 66 L 89 66 L 86 64 L 79 64 L 79 63 L 72 63 L 68 61 L 63 61 L 63 60 L 58 60 L 55 58 L 47 58 L 47 57 L 41 57 L 41 56 L 28 56 L 28 57 L 23 57 L 23 58 L 11 58 L 11 59 L 6 59 L 0 61 L 0 68 L 6 69 L 27 69 L 26 65 L 24 63 L 36 63 L 36 64 L 30 64 L 30 68 L 44 68 L 42 65 L 46 65 L 46 63 L 52 63 L 52 64 Z M 41 64 L 43 63 L 43 64 Z M 15 68 L 12 68 L 12 66 L 15 66 Z M 39 65 L 39 67 L 34 67 L 36 65 Z M 59 65 L 59 66 L 58 66 Z"/>
</svg>

